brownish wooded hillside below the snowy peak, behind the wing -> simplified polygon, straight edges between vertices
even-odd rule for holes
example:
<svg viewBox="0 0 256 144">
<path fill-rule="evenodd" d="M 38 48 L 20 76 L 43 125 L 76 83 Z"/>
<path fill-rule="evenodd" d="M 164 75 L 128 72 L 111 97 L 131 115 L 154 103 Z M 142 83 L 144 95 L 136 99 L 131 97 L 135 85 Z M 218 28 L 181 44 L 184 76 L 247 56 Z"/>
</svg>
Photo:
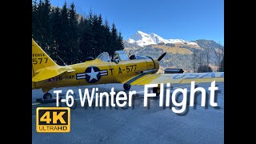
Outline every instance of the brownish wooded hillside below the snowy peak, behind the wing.
<svg viewBox="0 0 256 144">
<path fill-rule="evenodd" d="M 124 42 L 127 52 L 134 50 L 135 54 L 148 55 L 158 58 L 166 52 L 160 61 L 160 69 L 181 68 L 185 72 L 224 71 L 224 46 L 217 42 L 200 39 L 195 41 L 198 46 L 186 43 L 158 43 L 148 46 L 138 46 L 134 43 Z"/>
</svg>

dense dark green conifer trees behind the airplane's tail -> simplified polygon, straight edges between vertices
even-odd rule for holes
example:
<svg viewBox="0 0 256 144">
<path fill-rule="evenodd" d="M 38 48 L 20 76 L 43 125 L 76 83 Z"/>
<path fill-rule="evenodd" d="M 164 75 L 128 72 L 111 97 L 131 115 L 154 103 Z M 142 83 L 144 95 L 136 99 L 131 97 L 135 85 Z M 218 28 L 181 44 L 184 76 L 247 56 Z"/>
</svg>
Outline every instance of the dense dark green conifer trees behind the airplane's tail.
<svg viewBox="0 0 256 144">
<path fill-rule="evenodd" d="M 78 14 L 74 3 L 62 7 L 49 0 L 32 2 L 32 38 L 59 65 L 84 62 L 103 51 L 111 54 L 123 50 L 122 34 L 116 26 L 102 20 L 92 10 L 87 16 Z"/>
</svg>

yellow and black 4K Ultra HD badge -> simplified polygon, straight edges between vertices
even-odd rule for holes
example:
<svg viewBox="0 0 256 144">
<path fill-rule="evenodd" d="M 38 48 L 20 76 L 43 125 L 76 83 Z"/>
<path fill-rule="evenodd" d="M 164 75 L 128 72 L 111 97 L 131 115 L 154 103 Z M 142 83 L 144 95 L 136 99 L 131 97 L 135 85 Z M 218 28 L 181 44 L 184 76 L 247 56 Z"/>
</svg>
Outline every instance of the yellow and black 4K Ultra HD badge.
<svg viewBox="0 0 256 144">
<path fill-rule="evenodd" d="M 36 116 L 38 133 L 70 132 L 69 107 L 38 107 Z"/>
</svg>

